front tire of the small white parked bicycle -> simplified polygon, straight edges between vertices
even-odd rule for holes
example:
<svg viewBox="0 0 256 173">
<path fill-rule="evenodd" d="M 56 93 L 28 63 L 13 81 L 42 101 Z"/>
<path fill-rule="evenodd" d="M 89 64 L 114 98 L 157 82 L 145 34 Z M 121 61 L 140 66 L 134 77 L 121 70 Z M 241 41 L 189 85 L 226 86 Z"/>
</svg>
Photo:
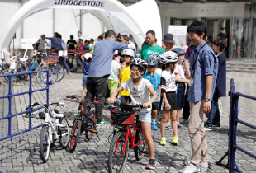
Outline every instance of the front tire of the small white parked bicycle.
<svg viewBox="0 0 256 173">
<path fill-rule="evenodd" d="M 44 125 L 40 132 L 40 157 L 46 163 L 50 157 L 49 126 Z"/>
</svg>

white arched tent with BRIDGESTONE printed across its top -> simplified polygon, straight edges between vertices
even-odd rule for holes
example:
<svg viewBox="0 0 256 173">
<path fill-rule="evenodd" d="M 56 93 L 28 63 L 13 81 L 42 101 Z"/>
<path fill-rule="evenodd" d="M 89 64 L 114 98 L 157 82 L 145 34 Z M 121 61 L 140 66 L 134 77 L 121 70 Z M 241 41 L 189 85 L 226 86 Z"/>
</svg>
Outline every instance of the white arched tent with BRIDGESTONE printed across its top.
<svg viewBox="0 0 256 173">
<path fill-rule="evenodd" d="M 30 0 L 12 17 L 0 36 L 0 56 L 2 50 L 12 40 L 21 22 L 33 13 L 47 8 L 83 9 L 91 12 L 101 19 L 107 30 L 115 30 L 116 33 L 130 33 L 136 44 L 141 47 L 145 40 L 145 33 L 154 30 L 156 38 L 162 40 L 161 20 L 159 8 L 154 0 L 142 0 L 129 7 L 116 0 Z M 149 11 L 150 9 L 150 11 Z M 161 41 L 158 41 L 161 45 Z"/>
</svg>

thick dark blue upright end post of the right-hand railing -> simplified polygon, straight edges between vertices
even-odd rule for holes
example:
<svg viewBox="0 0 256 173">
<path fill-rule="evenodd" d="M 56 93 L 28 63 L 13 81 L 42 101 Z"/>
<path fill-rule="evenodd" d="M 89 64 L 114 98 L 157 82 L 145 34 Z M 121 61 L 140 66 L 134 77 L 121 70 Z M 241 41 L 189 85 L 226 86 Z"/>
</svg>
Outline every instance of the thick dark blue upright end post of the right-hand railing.
<svg viewBox="0 0 256 173">
<path fill-rule="evenodd" d="M 232 165 L 234 161 L 234 105 L 235 105 L 235 83 L 234 79 L 232 78 L 230 80 L 230 129 L 229 129 L 229 159 L 228 159 L 228 165 L 229 165 L 229 172 L 232 173 Z"/>
</svg>

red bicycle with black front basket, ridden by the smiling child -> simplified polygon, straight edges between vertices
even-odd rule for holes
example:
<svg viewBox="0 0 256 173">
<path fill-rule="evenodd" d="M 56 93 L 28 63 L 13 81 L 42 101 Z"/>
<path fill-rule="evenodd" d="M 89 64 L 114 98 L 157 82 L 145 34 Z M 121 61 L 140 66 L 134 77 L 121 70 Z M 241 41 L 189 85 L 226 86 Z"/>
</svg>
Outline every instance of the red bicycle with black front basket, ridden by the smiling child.
<svg viewBox="0 0 256 173">
<path fill-rule="evenodd" d="M 130 148 L 134 148 L 135 157 L 139 161 L 144 157 L 147 147 L 139 115 L 136 113 L 143 109 L 143 105 L 130 105 L 117 101 L 114 105 L 111 108 L 113 138 L 111 138 L 107 161 L 110 173 L 124 170 Z M 134 129 L 133 132 L 131 128 Z"/>
</svg>

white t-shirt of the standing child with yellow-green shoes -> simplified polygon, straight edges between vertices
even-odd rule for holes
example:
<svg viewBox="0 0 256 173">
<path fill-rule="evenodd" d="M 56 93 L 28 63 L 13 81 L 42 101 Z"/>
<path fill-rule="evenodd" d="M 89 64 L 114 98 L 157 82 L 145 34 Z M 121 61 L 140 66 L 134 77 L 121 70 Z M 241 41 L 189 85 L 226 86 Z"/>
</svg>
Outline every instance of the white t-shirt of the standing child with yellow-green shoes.
<svg viewBox="0 0 256 173">
<path fill-rule="evenodd" d="M 165 92 L 176 91 L 175 75 L 171 71 L 163 71 L 161 76 L 161 90 Z"/>
</svg>

